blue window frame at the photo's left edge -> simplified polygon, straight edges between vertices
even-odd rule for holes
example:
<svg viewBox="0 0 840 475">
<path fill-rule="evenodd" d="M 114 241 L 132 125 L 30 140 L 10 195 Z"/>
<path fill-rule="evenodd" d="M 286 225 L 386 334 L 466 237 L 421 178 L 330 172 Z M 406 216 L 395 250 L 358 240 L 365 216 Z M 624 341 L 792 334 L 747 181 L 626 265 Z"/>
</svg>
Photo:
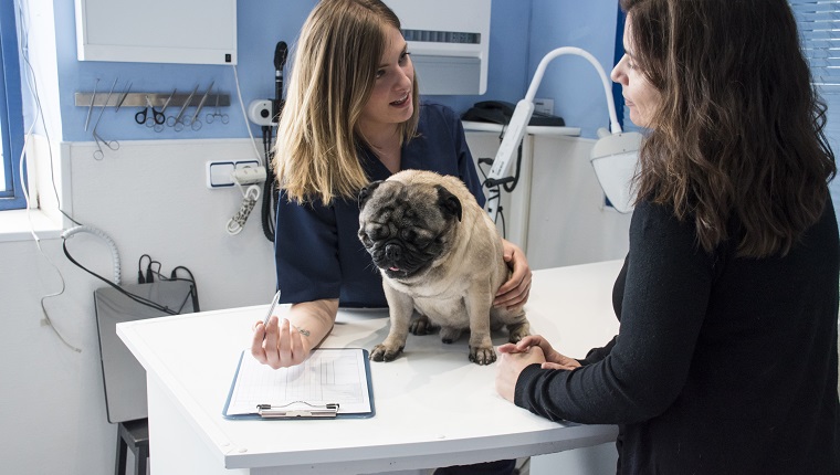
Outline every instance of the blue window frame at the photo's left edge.
<svg viewBox="0 0 840 475">
<path fill-rule="evenodd" d="M 0 136 L 2 137 L 6 187 L 0 190 L 0 211 L 27 207 L 27 165 L 23 151 L 23 101 L 15 2 L 0 2 Z M 21 184 L 23 177 L 23 184 Z"/>
</svg>

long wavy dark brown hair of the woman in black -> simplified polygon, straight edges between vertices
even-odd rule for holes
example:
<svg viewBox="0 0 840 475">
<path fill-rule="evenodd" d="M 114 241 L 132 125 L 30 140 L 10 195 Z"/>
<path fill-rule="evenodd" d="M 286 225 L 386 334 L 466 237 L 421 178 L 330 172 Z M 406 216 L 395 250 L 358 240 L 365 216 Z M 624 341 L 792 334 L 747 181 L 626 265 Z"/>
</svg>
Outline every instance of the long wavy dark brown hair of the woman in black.
<svg viewBox="0 0 840 475">
<path fill-rule="evenodd" d="M 735 239 L 742 256 L 786 254 L 819 220 L 837 171 L 787 1 L 621 8 L 637 67 L 661 92 L 639 199 L 692 219 L 707 252 Z"/>
</svg>

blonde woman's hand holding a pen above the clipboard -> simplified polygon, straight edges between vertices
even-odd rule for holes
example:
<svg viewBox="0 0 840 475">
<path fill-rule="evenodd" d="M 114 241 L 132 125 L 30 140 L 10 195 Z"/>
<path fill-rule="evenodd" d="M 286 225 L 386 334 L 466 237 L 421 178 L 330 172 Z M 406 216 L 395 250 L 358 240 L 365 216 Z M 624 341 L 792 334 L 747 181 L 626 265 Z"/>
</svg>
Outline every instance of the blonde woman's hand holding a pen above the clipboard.
<svg viewBox="0 0 840 475">
<path fill-rule="evenodd" d="M 251 341 L 251 355 L 263 365 L 287 368 L 300 365 L 308 356 L 304 348 L 302 330 L 292 325 L 287 318 L 280 321 L 274 309 L 280 300 L 280 291 L 274 294 L 265 319 L 258 321 Z"/>
</svg>

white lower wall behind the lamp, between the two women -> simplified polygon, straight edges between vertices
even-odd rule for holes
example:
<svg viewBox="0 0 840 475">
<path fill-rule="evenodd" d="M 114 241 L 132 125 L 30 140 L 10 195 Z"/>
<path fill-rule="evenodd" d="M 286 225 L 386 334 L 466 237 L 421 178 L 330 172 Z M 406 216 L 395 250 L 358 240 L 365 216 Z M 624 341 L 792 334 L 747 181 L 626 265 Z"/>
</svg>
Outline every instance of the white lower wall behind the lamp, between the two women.
<svg viewBox="0 0 840 475">
<path fill-rule="evenodd" d="M 466 137 L 476 160 L 495 156 L 496 134 Z M 627 254 L 631 214 L 603 205 L 589 162 L 594 144 L 580 137 L 526 136 L 519 183 L 513 193 L 503 193 L 503 210 L 507 239 L 525 251 L 535 270 Z"/>
</svg>

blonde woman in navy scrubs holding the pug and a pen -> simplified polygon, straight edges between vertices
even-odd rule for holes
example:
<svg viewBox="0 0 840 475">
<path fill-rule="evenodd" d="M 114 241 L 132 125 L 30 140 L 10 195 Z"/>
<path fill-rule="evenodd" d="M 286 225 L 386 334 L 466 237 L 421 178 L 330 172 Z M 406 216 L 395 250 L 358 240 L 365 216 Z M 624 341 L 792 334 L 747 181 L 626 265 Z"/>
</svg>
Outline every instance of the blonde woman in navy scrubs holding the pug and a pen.
<svg viewBox="0 0 840 475">
<path fill-rule="evenodd" d="M 380 274 L 356 234 L 361 187 L 403 169 L 433 170 L 459 177 L 484 203 L 460 119 L 447 107 L 419 104 L 399 19 L 379 0 L 321 1 L 291 67 L 274 169 L 277 285 L 281 302 L 293 305 L 288 319 L 259 323 L 252 342 L 253 356 L 272 368 L 304 361 L 339 305 L 387 306 Z M 507 242 L 505 260 L 513 275 L 494 305 L 523 305 L 527 261 Z M 510 473 L 513 461 L 486 468 L 472 473 Z"/>
</svg>

